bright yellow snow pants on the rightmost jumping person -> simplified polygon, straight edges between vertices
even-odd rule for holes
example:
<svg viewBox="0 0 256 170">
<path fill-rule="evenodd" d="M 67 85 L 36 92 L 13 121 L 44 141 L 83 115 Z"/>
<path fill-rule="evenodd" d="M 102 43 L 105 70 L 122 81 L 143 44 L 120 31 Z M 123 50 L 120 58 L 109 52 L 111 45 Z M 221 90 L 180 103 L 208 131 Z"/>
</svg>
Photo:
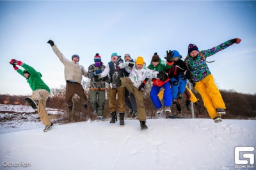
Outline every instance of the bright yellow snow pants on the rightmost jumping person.
<svg viewBox="0 0 256 170">
<path fill-rule="evenodd" d="M 214 83 L 213 76 L 207 75 L 202 81 L 196 82 L 196 91 L 201 95 L 209 116 L 213 119 L 217 114 L 216 109 L 226 109 L 225 103 L 221 97 L 220 91 Z"/>
</svg>

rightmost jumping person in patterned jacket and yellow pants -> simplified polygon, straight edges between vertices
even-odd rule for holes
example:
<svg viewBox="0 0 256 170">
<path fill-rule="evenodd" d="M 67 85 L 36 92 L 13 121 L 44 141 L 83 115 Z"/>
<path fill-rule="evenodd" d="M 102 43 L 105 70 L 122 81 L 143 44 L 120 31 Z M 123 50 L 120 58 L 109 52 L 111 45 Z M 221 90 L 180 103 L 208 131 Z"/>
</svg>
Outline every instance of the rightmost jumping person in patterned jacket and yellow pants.
<svg viewBox="0 0 256 170">
<path fill-rule="evenodd" d="M 225 103 L 221 97 L 220 91 L 214 84 L 213 76 L 207 66 L 207 57 L 220 52 L 234 43 L 240 43 L 241 39 L 234 38 L 220 45 L 213 47 L 212 49 L 199 51 L 195 44 L 190 43 L 188 45 L 188 56 L 186 56 L 184 62 L 188 69 L 193 74 L 193 79 L 196 82 L 195 89 L 200 93 L 204 106 L 206 107 L 209 116 L 215 123 L 221 122 L 221 114 L 225 114 Z"/>
</svg>

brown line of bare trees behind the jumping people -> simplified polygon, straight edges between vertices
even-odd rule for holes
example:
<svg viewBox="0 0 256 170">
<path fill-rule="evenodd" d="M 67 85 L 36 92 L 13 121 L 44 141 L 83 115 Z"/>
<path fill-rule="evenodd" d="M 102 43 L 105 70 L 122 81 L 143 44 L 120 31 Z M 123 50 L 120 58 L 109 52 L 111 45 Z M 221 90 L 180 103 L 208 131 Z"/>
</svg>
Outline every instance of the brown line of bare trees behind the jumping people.
<svg viewBox="0 0 256 170">
<path fill-rule="evenodd" d="M 68 111 L 67 105 L 65 105 L 65 90 L 66 87 L 61 85 L 60 88 L 52 88 L 51 95 L 47 100 L 46 107 L 51 107 L 55 109 L 63 109 L 65 110 L 65 114 L 61 122 L 58 123 L 70 123 L 70 122 L 77 122 L 77 121 L 86 121 L 86 120 L 97 120 L 97 116 L 93 114 L 92 106 L 90 105 L 90 90 L 88 89 L 90 84 L 90 80 L 83 81 L 82 85 L 84 88 L 84 93 L 88 97 L 88 109 L 84 109 L 83 105 L 81 104 L 81 100 L 77 95 L 73 97 L 73 110 Z M 156 109 L 150 100 L 150 89 L 152 88 L 152 83 L 150 80 L 146 84 L 146 88 L 143 91 L 144 97 L 144 104 L 147 113 L 147 119 L 155 119 L 158 118 L 155 112 Z M 196 98 L 199 98 L 198 105 L 193 105 L 195 118 L 209 118 L 209 114 L 204 107 L 204 103 L 202 102 L 202 98 L 200 97 L 199 93 L 195 91 L 195 89 L 191 89 Z M 223 100 L 226 105 L 226 114 L 222 115 L 223 119 L 245 119 L 245 120 L 256 120 L 256 93 L 255 94 L 244 94 L 244 93 L 237 93 L 234 89 L 230 90 L 221 90 L 220 93 L 223 97 Z M 7 95 L 0 95 L 0 100 L 4 100 Z M 13 101 L 19 97 L 20 104 L 24 104 L 26 96 L 17 96 L 17 95 L 8 95 L 10 98 L 11 104 Z M 180 106 L 182 107 L 182 115 L 184 117 L 191 117 L 191 111 L 188 111 L 185 107 L 185 100 L 186 95 L 180 101 Z M 177 109 L 175 105 L 172 105 L 172 114 L 177 114 Z M 126 111 L 126 117 L 131 118 L 129 115 L 129 108 Z M 165 114 L 163 114 L 165 117 Z M 105 100 L 105 109 L 104 109 L 104 118 L 110 118 L 108 112 L 108 85 L 106 86 L 106 100 Z"/>
</svg>

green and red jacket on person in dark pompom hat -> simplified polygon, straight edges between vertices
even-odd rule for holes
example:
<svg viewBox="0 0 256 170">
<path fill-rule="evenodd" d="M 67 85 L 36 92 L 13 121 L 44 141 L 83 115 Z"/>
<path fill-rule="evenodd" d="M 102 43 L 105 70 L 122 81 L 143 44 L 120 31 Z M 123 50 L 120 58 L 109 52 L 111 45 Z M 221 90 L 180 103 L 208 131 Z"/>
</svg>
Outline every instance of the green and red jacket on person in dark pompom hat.
<svg viewBox="0 0 256 170">
<path fill-rule="evenodd" d="M 155 67 L 151 61 L 150 65 L 148 66 L 148 68 L 150 70 L 154 70 L 157 72 L 161 72 L 164 71 L 166 72 L 170 67 L 173 66 L 173 61 L 171 63 L 168 63 L 167 61 L 162 61 L 161 58 L 159 58 L 159 63 L 158 65 Z M 157 86 L 157 87 L 161 87 L 163 86 L 164 83 L 168 82 L 170 79 L 166 79 L 166 81 L 160 81 L 160 79 L 152 79 L 153 82 L 153 86 Z"/>
</svg>

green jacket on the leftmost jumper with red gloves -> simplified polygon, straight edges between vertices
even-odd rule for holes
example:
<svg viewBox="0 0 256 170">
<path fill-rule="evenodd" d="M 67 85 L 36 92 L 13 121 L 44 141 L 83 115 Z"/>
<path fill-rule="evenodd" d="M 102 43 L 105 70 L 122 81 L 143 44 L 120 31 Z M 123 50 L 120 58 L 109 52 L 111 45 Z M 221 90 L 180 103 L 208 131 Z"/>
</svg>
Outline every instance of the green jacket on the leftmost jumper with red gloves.
<svg viewBox="0 0 256 170">
<path fill-rule="evenodd" d="M 42 74 L 40 72 L 36 72 L 36 70 L 33 67 L 26 65 L 25 63 L 23 63 L 22 67 L 29 72 L 27 82 L 32 91 L 35 91 L 36 89 L 46 89 L 49 93 L 51 93 L 50 88 L 41 79 Z M 23 77 L 25 77 L 23 74 L 23 70 L 18 69 L 17 72 L 20 73 L 20 75 L 22 75 Z"/>
</svg>

